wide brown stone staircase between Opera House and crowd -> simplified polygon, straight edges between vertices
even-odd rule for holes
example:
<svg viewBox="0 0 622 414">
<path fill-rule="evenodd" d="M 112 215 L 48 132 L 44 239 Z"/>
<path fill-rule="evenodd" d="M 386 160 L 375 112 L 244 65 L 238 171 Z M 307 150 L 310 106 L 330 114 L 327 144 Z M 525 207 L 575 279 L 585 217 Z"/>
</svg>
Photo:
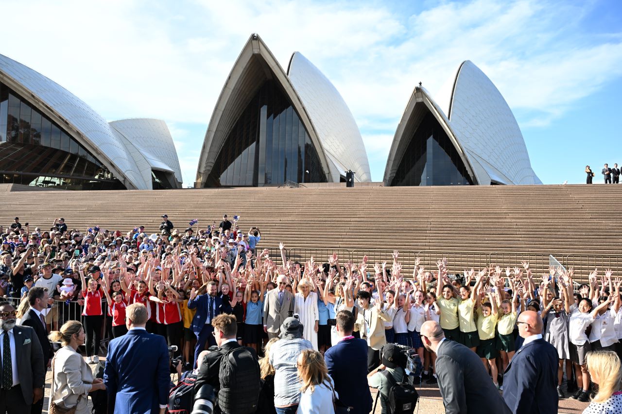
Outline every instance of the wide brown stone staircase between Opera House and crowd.
<svg viewBox="0 0 622 414">
<path fill-rule="evenodd" d="M 432 267 L 448 257 L 450 270 L 519 265 L 529 260 L 544 272 L 549 254 L 579 277 L 588 269 L 622 272 L 622 186 L 437 186 L 355 188 L 219 188 L 152 191 L 6 191 L 0 186 L 0 223 L 19 216 L 30 229 L 49 229 L 63 217 L 70 229 L 99 225 L 122 232 L 144 225 L 157 232 L 168 214 L 183 232 L 190 219 L 200 228 L 224 213 L 241 216 L 244 231 L 261 229 L 259 247 L 288 257 L 326 260 L 391 259 L 398 249 L 411 266 L 419 256 Z"/>
</svg>

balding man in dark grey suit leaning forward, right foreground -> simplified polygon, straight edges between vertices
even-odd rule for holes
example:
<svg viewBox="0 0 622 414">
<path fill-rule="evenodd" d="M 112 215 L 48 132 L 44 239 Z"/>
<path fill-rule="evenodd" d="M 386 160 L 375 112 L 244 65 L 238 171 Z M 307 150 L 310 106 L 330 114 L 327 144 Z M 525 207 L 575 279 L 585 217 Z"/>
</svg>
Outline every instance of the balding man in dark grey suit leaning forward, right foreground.
<svg viewBox="0 0 622 414">
<path fill-rule="evenodd" d="M 475 352 L 445 339 L 443 329 L 435 321 L 427 321 L 421 326 L 421 339 L 425 348 L 436 354 L 436 371 L 445 413 L 474 414 L 485 410 L 495 414 L 511 414 Z"/>
</svg>

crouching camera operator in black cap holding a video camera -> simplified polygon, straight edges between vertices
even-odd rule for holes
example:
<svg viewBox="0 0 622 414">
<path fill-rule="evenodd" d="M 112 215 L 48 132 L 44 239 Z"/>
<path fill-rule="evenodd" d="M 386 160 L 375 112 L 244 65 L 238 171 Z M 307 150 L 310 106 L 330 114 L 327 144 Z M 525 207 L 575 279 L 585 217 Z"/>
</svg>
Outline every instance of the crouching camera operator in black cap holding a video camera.
<svg viewBox="0 0 622 414">
<path fill-rule="evenodd" d="M 396 344 L 386 344 L 381 353 L 382 363 L 378 368 L 369 372 L 367 383 L 369 387 L 378 389 L 382 414 L 387 414 L 389 390 L 394 384 L 402 382 L 404 375 L 406 375 L 404 370 L 406 368 L 406 354 Z"/>
</svg>

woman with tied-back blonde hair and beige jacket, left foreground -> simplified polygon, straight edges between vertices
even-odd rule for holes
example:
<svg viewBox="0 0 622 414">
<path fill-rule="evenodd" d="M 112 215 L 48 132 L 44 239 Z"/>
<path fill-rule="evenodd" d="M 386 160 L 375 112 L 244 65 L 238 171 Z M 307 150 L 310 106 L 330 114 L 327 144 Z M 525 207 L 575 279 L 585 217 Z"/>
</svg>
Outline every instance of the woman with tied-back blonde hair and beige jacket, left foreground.
<svg viewBox="0 0 622 414">
<path fill-rule="evenodd" d="M 68 321 L 60 327 L 60 331 L 52 331 L 50 341 L 63 345 L 52 359 L 52 389 L 50 390 L 50 408 L 56 405 L 60 410 L 75 407 L 76 414 L 90 412 L 87 407 L 88 393 L 105 390 L 103 381 L 93 379 L 93 372 L 83 357 L 78 354 L 78 346 L 85 342 L 82 324 Z"/>
</svg>

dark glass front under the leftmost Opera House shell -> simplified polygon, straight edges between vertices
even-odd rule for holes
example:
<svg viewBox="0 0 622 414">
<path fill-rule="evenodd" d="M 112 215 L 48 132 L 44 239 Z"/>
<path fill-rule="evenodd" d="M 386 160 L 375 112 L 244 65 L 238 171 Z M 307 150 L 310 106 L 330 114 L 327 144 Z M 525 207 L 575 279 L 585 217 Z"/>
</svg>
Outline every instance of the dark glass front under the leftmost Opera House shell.
<svg viewBox="0 0 622 414">
<path fill-rule="evenodd" d="M 0 183 L 126 189 L 67 131 L 4 83 L 0 83 Z"/>
</svg>

